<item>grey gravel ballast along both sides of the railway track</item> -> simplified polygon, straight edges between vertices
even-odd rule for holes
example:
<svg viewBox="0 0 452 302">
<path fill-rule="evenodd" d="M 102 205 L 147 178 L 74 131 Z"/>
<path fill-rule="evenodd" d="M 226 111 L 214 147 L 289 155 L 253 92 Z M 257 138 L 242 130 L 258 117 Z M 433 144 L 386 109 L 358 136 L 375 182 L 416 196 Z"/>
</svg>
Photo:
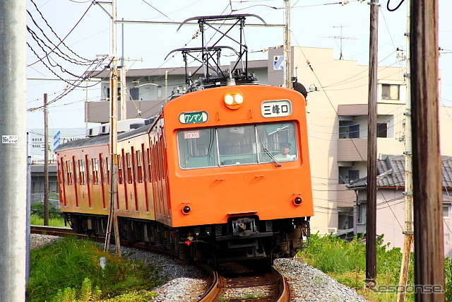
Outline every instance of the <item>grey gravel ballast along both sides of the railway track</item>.
<svg viewBox="0 0 452 302">
<path fill-rule="evenodd" d="M 31 248 L 40 248 L 57 239 L 54 236 L 32 234 L 30 245 Z M 152 289 L 158 294 L 155 302 L 198 301 L 208 290 L 209 281 L 204 272 L 197 267 L 185 265 L 181 260 L 127 247 L 121 247 L 121 252 L 127 259 L 143 260 L 160 269 L 160 277 L 165 283 Z M 355 290 L 301 262 L 277 259 L 274 267 L 288 279 L 293 302 L 366 301 Z"/>
</svg>

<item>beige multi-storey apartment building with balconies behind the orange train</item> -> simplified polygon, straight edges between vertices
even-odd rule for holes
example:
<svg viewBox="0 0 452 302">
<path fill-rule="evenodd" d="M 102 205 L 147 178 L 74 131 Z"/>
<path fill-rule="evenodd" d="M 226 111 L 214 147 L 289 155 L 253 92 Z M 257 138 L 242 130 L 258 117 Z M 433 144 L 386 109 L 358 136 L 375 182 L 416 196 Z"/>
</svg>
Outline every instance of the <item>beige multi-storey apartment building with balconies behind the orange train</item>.
<svg viewBox="0 0 452 302">
<path fill-rule="evenodd" d="M 270 49 L 268 59 L 249 62 L 249 72 L 256 74 L 260 83 L 281 86 L 283 70 L 275 62 L 282 55 L 282 48 Z M 351 229 L 357 197 L 345 185 L 367 175 L 368 66 L 334 59 L 333 49 L 292 47 L 292 68 L 293 75 L 311 91 L 307 97 L 307 121 L 315 209 L 312 231 L 335 233 Z M 403 75 L 400 67 L 378 69 L 378 153 L 403 154 L 405 148 Z M 103 73 L 97 78 L 107 76 Z M 196 76 L 195 69 L 192 76 Z M 125 83 L 126 117 L 152 117 L 171 95 L 184 90 L 184 83 L 182 68 L 129 70 Z M 108 122 L 108 95 L 109 83 L 102 83 L 102 99 L 85 105 L 85 122 Z M 452 139 L 449 114 L 452 108 L 439 108 L 441 141 Z M 441 153 L 452 155 L 452 146 L 441 144 Z"/>
</svg>

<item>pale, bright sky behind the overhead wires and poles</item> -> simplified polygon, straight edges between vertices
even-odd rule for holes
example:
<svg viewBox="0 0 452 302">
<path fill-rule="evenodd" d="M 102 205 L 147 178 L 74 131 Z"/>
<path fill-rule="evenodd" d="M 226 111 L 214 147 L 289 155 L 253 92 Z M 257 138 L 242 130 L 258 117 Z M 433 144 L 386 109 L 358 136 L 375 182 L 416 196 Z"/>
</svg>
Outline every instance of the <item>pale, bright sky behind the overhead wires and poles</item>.
<svg viewBox="0 0 452 302">
<path fill-rule="evenodd" d="M 387 1 L 380 1 L 380 66 L 400 66 L 396 49 L 406 50 L 406 2 L 403 1 L 396 11 L 388 11 Z M 389 6 L 396 8 L 399 3 L 400 0 L 391 0 Z M 335 59 L 339 59 L 342 47 L 345 59 L 363 65 L 369 63 L 367 1 L 348 1 L 343 5 L 328 0 L 292 0 L 290 4 L 292 46 L 333 48 Z M 284 7 L 283 0 L 117 0 L 117 20 L 182 22 L 194 16 L 253 13 L 268 24 L 283 24 Z M 88 68 L 86 62 L 98 59 L 94 63 L 100 64 L 96 70 L 107 66 L 107 59 L 101 61 L 100 58 L 112 53 L 110 18 L 106 12 L 110 10 L 109 4 L 92 4 L 86 0 L 27 0 L 27 10 L 27 42 L 30 45 L 27 48 L 27 128 L 44 127 L 44 113 L 40 108 L 44 93 L 51 103 L 51 129 L 90 127 L 92 124 L 84 122 L 84 102 L 100 99 L 100 85 L 81 83 L 82 87 L 73 89 L 70 84 L 73 81 L 68 80 L 82 75 Z M 439 68 L 443 79 L 440 105 L 448 106 L 452 105 L 451 12 L 452 1 L 439 0 L 439 47 L 442 49 Z M 246 23 L 259 22 L 256 18 L 246 20 Z M 142 23 L 117 25 L 117 54 L 119 57 L 124 54 L 127 69 L 183 66 L 182 55 L 169 57 L 166 61 L 165 57 L 177 48 L 200 46 L 201 38 L 192 38 L 197 26 L 184 25 L 178 31 L 177 27 Z M 283 45 L 283 28 L 248 26 L 245 37 L 249 60 L 266 59 L 268 52 L 261 50 Z M 50 41 L 72 58 L 71 62 L 54 54 L 46 57 L 45 45 L 55 48 Z M 87 85 L 88 91 L 84 88 Z M 62 93 L 67 94 L 59 98 Z"/>
</svg>

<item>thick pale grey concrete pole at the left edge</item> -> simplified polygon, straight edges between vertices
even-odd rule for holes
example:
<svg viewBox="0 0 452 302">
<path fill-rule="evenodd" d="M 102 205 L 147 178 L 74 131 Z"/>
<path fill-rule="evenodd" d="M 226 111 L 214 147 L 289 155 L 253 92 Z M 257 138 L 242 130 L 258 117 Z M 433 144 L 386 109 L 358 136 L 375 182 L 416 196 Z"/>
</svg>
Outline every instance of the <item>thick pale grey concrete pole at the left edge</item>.
<svg viewBox="0 0 452 302">
<path fill-rule="evenodd" d="M 0 301 L 25 301 L 25 0 L 0 1 Z"/>
</svg>

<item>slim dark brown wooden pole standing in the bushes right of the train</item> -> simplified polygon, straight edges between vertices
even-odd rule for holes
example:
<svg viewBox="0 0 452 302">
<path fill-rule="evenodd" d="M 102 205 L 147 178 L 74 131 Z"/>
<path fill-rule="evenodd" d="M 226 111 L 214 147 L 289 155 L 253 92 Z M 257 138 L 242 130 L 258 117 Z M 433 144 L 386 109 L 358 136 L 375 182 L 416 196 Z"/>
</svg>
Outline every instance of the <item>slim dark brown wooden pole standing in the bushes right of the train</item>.
<svg viewBox="0 0 452 302">
<path fill-rule="evenodd" d="M 366 286 L 376 285 L 376 99 L 378 68 L 379 1 L 370 5 L 369 103 L 367 122 L 367 225 Z"/>
</svg>

